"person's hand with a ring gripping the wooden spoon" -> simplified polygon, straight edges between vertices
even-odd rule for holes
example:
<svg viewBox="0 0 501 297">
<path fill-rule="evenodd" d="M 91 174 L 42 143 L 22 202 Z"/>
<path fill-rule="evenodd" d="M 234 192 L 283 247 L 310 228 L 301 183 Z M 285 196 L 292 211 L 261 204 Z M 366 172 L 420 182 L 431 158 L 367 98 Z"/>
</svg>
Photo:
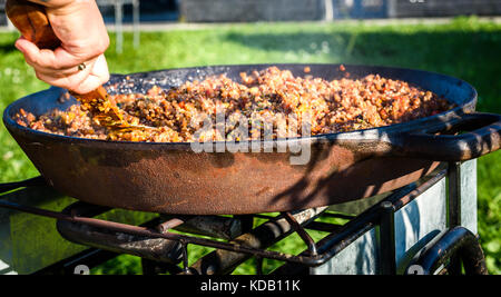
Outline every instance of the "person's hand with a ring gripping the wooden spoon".
<svg viewBox="0 0 501 297">
<path fill-rule="evenodd" d="M 21 37 L 16 41 L 37 78 L 78 93 L 87 93 L 109 79 L 104 52 L 109 37 L 94 0 L 31 1 L 46 7 L 46 13 L 61 44 L 39 49 Z"/>
</svg>

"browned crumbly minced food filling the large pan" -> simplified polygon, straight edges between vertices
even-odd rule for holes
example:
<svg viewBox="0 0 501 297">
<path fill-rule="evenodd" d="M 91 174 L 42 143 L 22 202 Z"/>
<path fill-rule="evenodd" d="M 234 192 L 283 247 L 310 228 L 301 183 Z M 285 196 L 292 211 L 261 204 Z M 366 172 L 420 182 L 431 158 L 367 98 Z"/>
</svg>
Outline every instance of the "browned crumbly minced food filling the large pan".
<svg viewBox="0 0 501 297">
<path fill-rule="evenodd" d="M 264 126 L 269 122 L 275 139 L 284 136 L 281 122 L 287 127 L 286 137 L 302 135 L 302 125 L 292 125 L 293 120 L 307 119 L 311 135 L 321 135 L 389 126 L 452 108 L 431 91 L 379 75 L 354 79 L 346 72 L 345 78 L 328 81 L 308 73 L 305 68 L 303 77 L 295 77 L 288 70 L 269 67 L 240 73 L 240 81 L 220 75 L 166 90 L 154 87 L 147 93 L 111 96 L 128 122 L 155 129 L 109 130 L 81 105 L 40 117 L 21 109 L 16 120 L 31 129 L 71 137 L 191 142 L 243 140 L 237 132 L 242 119 L 248 125 L 248 140 L 263 138 Z M 218 126 L 222 117 L 226 123 L 223 127 Z M 204 126 L 207 121 L 214 125 Z"/>
</svg>

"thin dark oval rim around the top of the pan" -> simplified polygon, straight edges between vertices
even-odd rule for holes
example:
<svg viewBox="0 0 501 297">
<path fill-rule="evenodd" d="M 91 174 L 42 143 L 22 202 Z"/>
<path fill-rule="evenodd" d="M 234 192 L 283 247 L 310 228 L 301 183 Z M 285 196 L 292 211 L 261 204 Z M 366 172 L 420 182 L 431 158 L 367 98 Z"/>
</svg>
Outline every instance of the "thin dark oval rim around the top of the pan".
<svg viewBox="0 0 501 297">
<path fill-rule="evenodd" d="M 341 65 L 344 65 L 346 68 L 354 67 L 354 68 L 373 68 L 373 69 L 385 69 L 385 70 L 399 70 L 399 71 L 411 71 L 414 73 L 421 72 L 429 76 L 438 76 L 442 77 L 448 80 L 454 80 L 458 85 L 465 86 L 470 92 L 471 96 L 468 100 L 462 102 L 462 105 L 458 105 L 456 107 L 440 112 L 434 116 L 419 118 L 412 121 L 406 122 L 400 122 L 389 126 L 382 126 L 382 127 L 375 127 L 375 128 L 367 128 L 367 129 L 358 129 L 353 131 L 346 131 L 346 132 L 333 132 L 333 133 L 322 133 L 322 135 L 314 135 L 308 137 L 294 137 L 294 138 L 286 138 L 286 139 L 274 139 L 274 140 L 249 140 L 247 141 L 250 143 L 259 143 L 264 145 L 266 142 L 278 142 L 278 141 L 312 141 L 312 143 L 318 142 L 318 141 L 335 141 L 335 140 L 362 140 L 362 139 L 373 139 L 374 137 L 381 137 L 382 135 L 390 135 L 390 133 L 403 133 L 403 132 L 419 132 L 424 127 L 428 127 L 430 125 L 436 125 L 439 122 L 446 122 L 448 120 L 454 119 L 460 117 L 463 113 L 470 113 L 474 111 L 474 107 L 477 105 L 478 100 L 478 92 L 473 86 L 471 86 L 469 82 L 442 75 L 439 72 L 428 71 L 428 70 L 421 70 L 421 69 L 409 69 L 409 68 L 400 68 L 400 67 L 386 67 L 386 66 L 372 66 L 372 65 L 346 65 L 346 63 L 250 63 L 250 65 L 215 65 L 215 66 L 204 66 L 204 67 L 187 67 L 187 68 L 170 68 L 170 69 L 163 69 L 163 70 L 153 70 L 147 72 L 134 72 L 134 73 L 114 73 L 112 77 L 127 77 L 127 76 L 140 76 L 140 75 L 150 75 L 156 72 L 163 72 L 163 71 L 175 71 L 175 70 L 196 70 L 196 69 L 208 69 L 208 68 L 227 68 L 227 67 L 271 67 L 271 66 L 296 66 L 296 67 L 307 67 L 307 66 L 328 66 L 328 67 L 338 67 Z M 19 131 L 23 133 L 24 136 L 31 136 L 37 137 L 41 139 L 50 139 L 50 140 L 58 140 L 61 142 L 71 142 L 71 143 L 81 143 L 81 145 L 99 145 L 99 146 L 127 146 L 127 147 L 159 147 L 159 148 L 190 148 L 193 143 L 204 143 L 204 142 L 140 142 L 140 141 L 122 141 L 122 140 L 102 140 L 102 139 L 90 139 L 90 138 L 80 138 L 80 137 L 72 137 L 72 136 L 61 136 L 56 133 L 49 133 L 39 131 L 36 129 L 31 129 L 28 127 L 23 127 L 19 123 L 17 123 L 13 118 L 10 115 L 12 113 L 12 109 L 14 108 L 16 103 L 19 103 L 22 100 L 28 100 L 30 97 L 37 95 L 37 93 L 43 93 L 48 92 L 52 89 L 60 89 L 57 87 L 50 87 L 49 89 L 41 90 L 36 93 L 28 95 L 26 97 L 19 98 L 11 102 L 3 111 L 3 123 L 6 128 L 12 133 L 12 131 Z M 448 99 L 448 98 L 445 98 Z M 418 128 L 416 128 L 418 127 Z M 217 143 L 225 143 L 227 141 L 213 141 L 210 143 L 217 145 Z M 238 143 L 238 142 L 235 142 Z"/>
</svg>

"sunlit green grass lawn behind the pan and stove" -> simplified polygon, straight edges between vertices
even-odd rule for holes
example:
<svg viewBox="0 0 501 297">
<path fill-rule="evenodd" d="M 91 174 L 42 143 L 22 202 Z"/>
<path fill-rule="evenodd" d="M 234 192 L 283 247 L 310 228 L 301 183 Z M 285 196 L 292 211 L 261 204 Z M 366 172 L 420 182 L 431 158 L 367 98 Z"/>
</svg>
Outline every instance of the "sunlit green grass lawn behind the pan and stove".
<svg viewBox="0 0 501 297">
<path fill-rule="evenodd" d="M 17 33 L 0 33 L 0 110 L 16 98 L 47 88 L 14 49 Z M 458 18 L 442 24 L 256 23 L 196 30 L 143 32 L 134 49 L 107 52 L 111 72 L 273 62 L 384 65 L 442 72 L 464 79 L 479 92 L 478 110 L 501 113 L 501 24 Z M 0 123 L 0 181 L 37 170 Z M 479 229 L 489 270 L 501 273 L 501 152 L 479 160 Z M 137 260 L 120 263 L 121 273 Z M 245 269 L 243 271 L 246 271 Z"/>
</svg>

